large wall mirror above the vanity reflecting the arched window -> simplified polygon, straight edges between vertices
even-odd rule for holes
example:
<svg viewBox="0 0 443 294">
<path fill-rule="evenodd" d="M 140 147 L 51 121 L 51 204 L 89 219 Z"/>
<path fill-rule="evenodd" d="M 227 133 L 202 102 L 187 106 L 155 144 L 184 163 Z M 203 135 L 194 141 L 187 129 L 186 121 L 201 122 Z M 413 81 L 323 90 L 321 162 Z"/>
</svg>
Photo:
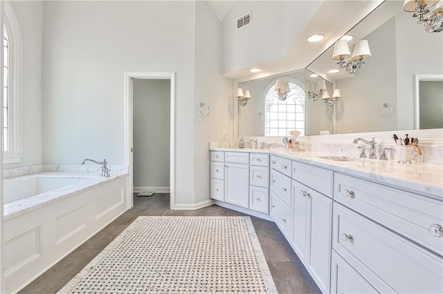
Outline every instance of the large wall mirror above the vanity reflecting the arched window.
<svg viewBox="0 0 443 294">
<path fill-rule="evenodd" d="M 343 70 L 329 72 L 338 69 L 337 61 L 332 59 L 334 46 L 331 46 L 306 70 L 240 83 L 239 87 L 251 90 L 252 99 L 246 106 L 239 107 L 239 136 L 283 136 L 287 135 L 288 128 L 304 128 L 303 135 L 319 135 L 320 131 L 343 134 L 415 129 L 419 125 L 417 113 L 426 117 L 428 110 L 433 109 L 424 99 L 419 99 L 419 92 L 426 92 L 423 88 L 426 83 L 420 83 L 423 86 L 417 91 L 415 76 L 442 77 L 443 32 L 426 32 L 410 14 L 401 10 L 402 4 L 403 1 L 385 1 L 346 34 L 353 37 L 348 42 L 351 53 L 361 39 L 368 40 L 371 52 L 363 68 L 352 74 Z M 281 117 L 277 121 L 271 119 L 271 114 L 266 117 L 266 95 L 275 79 L 292 82 L 305 92 L 303 115 L 279 112 L 273 114 L 273 119 Z M 318 90 L 321 80 L 325 81 L 329 97 L 335 89 L 340 89 L 341 98 L 332 106 L 326 104 L 323 97 L 314 101 L 306 96 L 311 88 Z M 443 91 L 427 92 L 430 91 L 434 93 L 433 99 L 426 101 L 440 101 L 442 105 Z M 285 106 L 279 107 L 283 112 Z M 297 109 L 301 109 L 300 106 Z M 437 121 L 433 126 L 439 124 Z"/>
</svg>

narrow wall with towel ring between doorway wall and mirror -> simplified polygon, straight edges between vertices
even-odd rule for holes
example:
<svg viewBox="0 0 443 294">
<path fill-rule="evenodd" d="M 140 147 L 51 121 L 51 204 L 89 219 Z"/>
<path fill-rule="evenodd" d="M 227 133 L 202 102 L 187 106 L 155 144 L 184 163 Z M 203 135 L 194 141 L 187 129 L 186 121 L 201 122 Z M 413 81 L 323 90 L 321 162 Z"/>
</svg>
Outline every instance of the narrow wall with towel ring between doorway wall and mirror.
<svg viewBox="0 0 443 294">
<path fill-rule="evenodd" d="M 195 28 L 195 203 L 209 200 L 209 141 L 233 138 L 233 80 L 221 77 L 221 24 L 206 1 L 196 2 Z M 210 114 L 199 113 L 199 103 Z M 191 113 L 191 112 L 190 112 Z M 179 148 L 182 143 L 177 141 Z"/>
</svg>

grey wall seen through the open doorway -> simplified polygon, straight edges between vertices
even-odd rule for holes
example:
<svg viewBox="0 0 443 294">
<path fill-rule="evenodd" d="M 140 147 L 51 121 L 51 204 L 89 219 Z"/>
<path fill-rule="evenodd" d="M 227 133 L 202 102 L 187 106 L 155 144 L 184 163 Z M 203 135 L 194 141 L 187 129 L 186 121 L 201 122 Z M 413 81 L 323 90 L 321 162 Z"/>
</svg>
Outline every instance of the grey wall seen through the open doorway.
<svg viewBox="0 0 443 294">
<path fill-rule="evenodd" d="M 134 190 L 170 188 L 170 80 L 133 81 Z"/>
</svg>

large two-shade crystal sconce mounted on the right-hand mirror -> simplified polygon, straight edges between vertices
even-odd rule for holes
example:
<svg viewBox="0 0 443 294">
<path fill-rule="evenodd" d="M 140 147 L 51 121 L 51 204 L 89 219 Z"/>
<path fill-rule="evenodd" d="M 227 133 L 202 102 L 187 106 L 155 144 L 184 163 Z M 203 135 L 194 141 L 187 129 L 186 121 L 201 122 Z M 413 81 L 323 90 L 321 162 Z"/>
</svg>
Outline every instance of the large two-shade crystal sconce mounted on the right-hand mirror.
<svg viewBox="0 0 443 294">
<path fill-rule="evenodd" d="M 338 60 L 337 64 L 340 69 L 344 68 L 348 74 L 352 74 L 357 68 L 363 68 L 365 59 L 371 57 L 368 40 L 362 39 L 355 44 L 351 60 L 347 61 L 346 63 L 345 59 L 350 56 L 351 52 L 349 50 L 349 44 L 347 41 L 336 41 L 334 53 L 332 53 L 332 59 Z"/>
</svg>

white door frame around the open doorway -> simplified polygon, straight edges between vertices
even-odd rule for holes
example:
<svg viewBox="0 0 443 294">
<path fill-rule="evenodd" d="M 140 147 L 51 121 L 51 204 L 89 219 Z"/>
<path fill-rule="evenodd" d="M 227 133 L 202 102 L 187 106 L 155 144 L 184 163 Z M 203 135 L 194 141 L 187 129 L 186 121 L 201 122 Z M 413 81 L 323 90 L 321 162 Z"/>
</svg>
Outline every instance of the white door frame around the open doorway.
<svg viewBox="0 0 443 294">
<path fill-rule="evenodd" d="M 125 72 L 125 164 L 128 166 L 128 209 L 134 206 L 134 126 L 133 83 L 134 79 L 170 80 L 170 208 L 175 204 L 175 72 Z"/>
</svg>

